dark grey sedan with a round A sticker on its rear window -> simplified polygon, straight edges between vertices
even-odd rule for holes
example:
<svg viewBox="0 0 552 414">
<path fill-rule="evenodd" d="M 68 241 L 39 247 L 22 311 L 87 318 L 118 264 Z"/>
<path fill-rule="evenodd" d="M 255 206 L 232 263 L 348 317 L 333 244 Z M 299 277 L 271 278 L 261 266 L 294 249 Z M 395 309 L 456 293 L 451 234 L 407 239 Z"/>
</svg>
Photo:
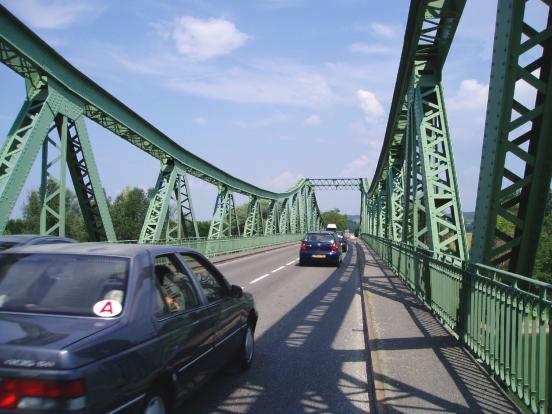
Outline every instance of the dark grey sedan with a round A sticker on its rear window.
<svg viewBox="0 0 552 414">
<path fill-rule="evenodd" d="M 0 412 L 167 413 L 229 361 L 251 294 L 203 255 L 108 243 L 0 253 Z"/>
</svg>

